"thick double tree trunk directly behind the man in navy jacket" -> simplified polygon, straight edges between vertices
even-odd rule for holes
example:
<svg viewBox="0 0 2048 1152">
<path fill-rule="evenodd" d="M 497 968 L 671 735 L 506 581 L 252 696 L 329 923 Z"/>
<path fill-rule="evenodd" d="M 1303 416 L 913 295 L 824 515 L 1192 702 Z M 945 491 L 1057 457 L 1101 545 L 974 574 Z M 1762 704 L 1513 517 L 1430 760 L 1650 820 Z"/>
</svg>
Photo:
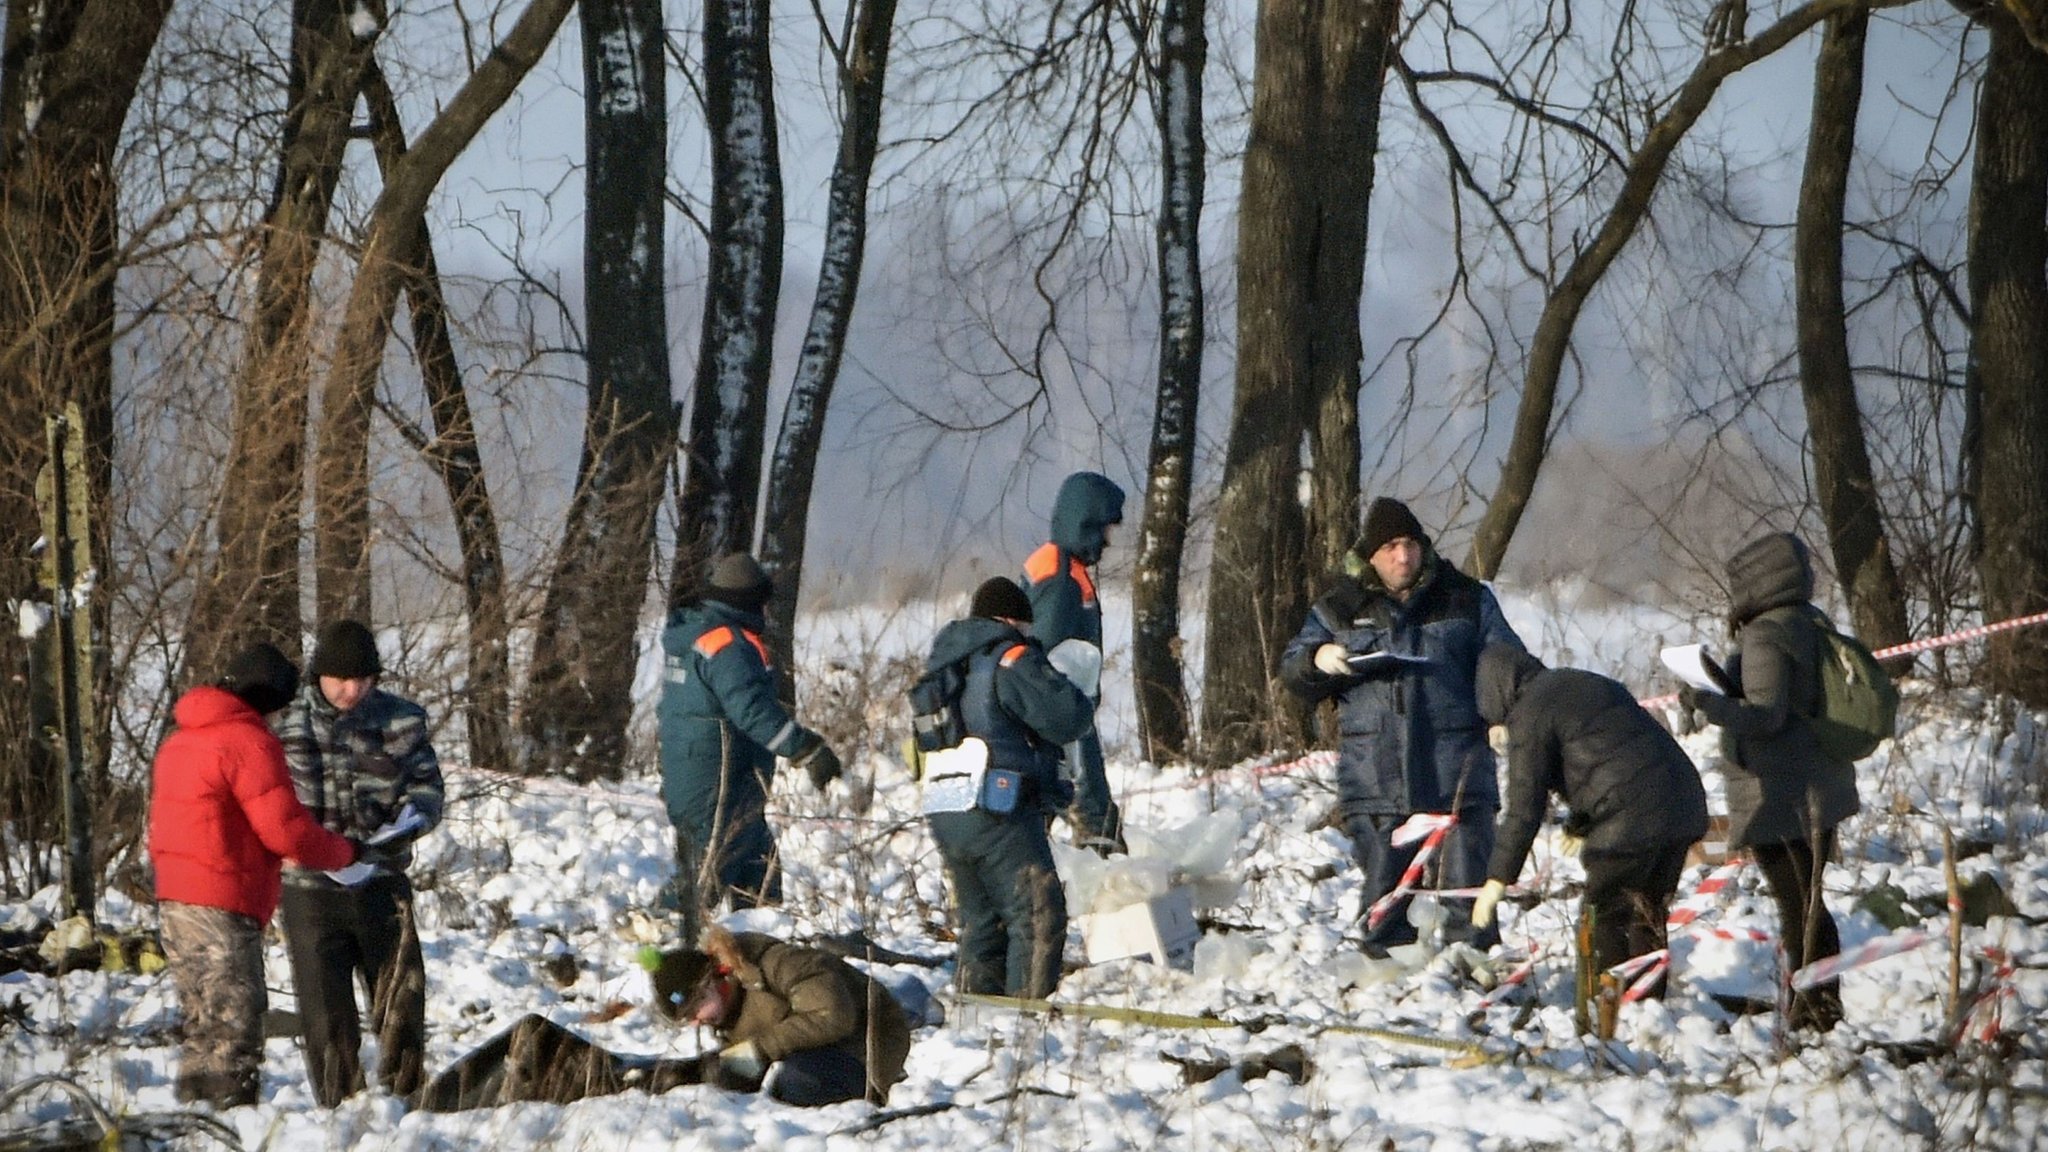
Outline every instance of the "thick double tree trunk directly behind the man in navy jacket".
<svg viewBox="0 0 2048 1152">
<path fill-rule="evenodd" d="M 1260 10 L 1239 209 L 1237 404 L 1208 578 L 1202 738 L 1212 758 L 1303 734 L 1272 670 L 1300 625 L 1309 572 L 1325 570 L 1358 529 L 1358 293 L 1397 18 L 1393 0 Z M 1305 451 L 1307 515 L 1296 498 Z"/>
</svg>

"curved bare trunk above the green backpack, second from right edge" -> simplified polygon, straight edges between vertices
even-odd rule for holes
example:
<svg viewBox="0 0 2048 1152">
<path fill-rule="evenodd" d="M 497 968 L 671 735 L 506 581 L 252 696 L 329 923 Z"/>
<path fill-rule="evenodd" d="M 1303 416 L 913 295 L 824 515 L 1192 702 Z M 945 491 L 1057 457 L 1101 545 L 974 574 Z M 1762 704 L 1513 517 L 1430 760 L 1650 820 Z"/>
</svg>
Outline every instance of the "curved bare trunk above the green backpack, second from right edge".
<svg viewBox="0 0 2048 1152">
<path fill-rule="evenodd" d="M 1907 640 L 1907 605 L 1884 535 L 1878 484 L 1864 445 L 1864 418 L 1849 369 L 1849 320 L 1841 293 L 1841 221 L 1864 102 L 1864 41 L 1870 10 L 1827 18 L 1812 82 L 1812 129 L 1800 180 L 1792 275 L 1798 295 L 1800 392 L 1812 437 L 1812 476 L 1835 574 L 1855 633 L 1872 648 Z"/>
</svg>

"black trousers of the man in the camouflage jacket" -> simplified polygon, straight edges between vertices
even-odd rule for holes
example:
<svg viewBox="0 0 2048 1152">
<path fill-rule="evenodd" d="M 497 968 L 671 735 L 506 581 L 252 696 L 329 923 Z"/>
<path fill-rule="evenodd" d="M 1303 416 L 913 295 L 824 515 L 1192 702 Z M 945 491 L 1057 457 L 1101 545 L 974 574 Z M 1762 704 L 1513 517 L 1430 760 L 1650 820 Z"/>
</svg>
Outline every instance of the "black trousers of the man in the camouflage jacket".
<svg viewBox="0 0 2048 1152">
<path fill-rule="evenodd" d="M 410 1101 L 424 1080 L 426 1056 L 426 961 L 412 914 L 412 883 L 403 875 L 379 875 L 358 888 L 287 886 L 279 918 L 313 1099 L 334 1107 L 362 1091 L 360 976 L 377 1033 L 377 1082 Z"/>
</svg>

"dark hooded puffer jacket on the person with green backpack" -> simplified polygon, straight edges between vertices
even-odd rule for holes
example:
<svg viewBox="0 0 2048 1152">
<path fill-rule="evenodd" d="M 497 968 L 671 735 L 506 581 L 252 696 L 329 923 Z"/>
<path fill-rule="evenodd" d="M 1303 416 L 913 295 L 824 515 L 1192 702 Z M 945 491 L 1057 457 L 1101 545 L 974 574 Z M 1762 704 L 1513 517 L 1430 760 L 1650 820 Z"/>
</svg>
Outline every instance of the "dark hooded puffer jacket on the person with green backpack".
<svg viewBox="0 0 2048 1152">
<path fill-rule="evenodd" d="M 1733 847 L 1810 840 L 1855 816 L 1855 765 L 1821 752 L 1808 719 L 1821 709 L 1821 625 L 1812 564 L 1798 537 L 1772 533 L 1729 560 L 1729 662 L 1739 697 L 1702 695 L 1720 726 Z"/>
</svg>

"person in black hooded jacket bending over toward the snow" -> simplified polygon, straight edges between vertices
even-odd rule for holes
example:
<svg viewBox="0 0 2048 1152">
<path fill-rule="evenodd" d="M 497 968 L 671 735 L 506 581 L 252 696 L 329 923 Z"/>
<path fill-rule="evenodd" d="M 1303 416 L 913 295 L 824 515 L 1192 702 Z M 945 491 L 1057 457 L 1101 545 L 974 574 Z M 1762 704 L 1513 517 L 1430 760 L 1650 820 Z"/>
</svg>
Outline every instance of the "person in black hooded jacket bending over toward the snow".
<svg viewBox="0 0 2048 1152">
<path fill-rule="evenodd" d="M 1567 851 L 1581 842 L 1579 914 L 1593 920 L 1595 970 L 1665 947 L 1686 853 L 1706 834 L 1706 791 L 1692 758 L 1618 681 L 1544 668 L 1520 648 L 1487 646 L 1477 691 L 1481 719 L 1507 728 L 1507 810 L 1473 924 L 1493 922 L 1556 793 L 1571 808 Z M 1663 982 L 1655 994 L 1663 996 Z"/>
</svg>

